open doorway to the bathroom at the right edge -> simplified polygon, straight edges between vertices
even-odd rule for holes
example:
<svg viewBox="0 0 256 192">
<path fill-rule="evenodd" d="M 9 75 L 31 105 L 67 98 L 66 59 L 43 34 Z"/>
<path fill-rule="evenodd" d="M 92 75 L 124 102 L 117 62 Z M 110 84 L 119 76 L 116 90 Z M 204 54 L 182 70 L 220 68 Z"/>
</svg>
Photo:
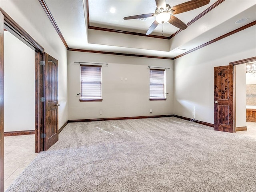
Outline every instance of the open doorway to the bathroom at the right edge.
<svg viewBox="0 0 256 192">
<path fill-rule="evenodd" d="M 256 58 L 234 65 L 236 132 L 256 138 Z"/>
</svg>

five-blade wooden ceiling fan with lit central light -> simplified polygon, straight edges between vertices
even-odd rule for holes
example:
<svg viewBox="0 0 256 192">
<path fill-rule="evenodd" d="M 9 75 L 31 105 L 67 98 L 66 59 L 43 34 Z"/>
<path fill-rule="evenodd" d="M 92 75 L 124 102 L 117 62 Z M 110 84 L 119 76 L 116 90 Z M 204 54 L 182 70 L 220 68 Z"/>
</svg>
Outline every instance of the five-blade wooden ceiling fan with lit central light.
<svg viewBox="0 0 256 192">
<path fill-rule="evenodd" d="M 204 5 L 207 5 L 210 0 L 192 0 L 182 4 L 178 4 L 176 6 L 171 7 L 169 4 L 166 4 L 166 0 L 156 0 L 156 10 L 154 13 L 149 14 L 140 14 L 129 17 L 124 17 L 124 20 L 128 19 L 139 19 L 139 18 L 147 18 L 147 17 L 156 17 L 156 20 L 149 27 L 146 35 L 151 34 L 154 29 L 158 26 L 158 24 L 162 23 L 170 23 L 182 30 L 186 29 L 188 26 L 184 24 L 181 20 L 176 18 L 174 14 L 183 13 L 186 11 L 190 11 Z"/>
</svg>

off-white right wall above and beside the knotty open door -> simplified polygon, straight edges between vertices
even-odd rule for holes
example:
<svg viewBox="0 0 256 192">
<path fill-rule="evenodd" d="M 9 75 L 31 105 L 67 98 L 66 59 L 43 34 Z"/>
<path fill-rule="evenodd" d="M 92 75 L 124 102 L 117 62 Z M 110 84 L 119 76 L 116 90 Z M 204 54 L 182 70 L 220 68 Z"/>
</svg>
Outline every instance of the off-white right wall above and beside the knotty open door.
<svg viewBox="0 0 256 192">
<path fill-rule="evenodd" d="M 214 67 L 256 55 L 256 26 L 174 60 L 174 114 L 214 124 Z"/>
</svg>

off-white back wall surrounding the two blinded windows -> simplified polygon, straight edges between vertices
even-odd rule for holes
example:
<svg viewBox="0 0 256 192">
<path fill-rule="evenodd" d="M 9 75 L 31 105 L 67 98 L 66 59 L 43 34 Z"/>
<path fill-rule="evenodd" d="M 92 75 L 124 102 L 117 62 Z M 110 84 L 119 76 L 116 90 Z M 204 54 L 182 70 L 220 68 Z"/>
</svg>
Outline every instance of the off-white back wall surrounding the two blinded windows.
<svg viewBox="0 0 256 192">
<path fill-rule="evenodd" d="M 80 65 L 74 61 L 108 63 L 102 66 L 102 102 L 79 102 Z M 166 101 L 149 101 L 148 66 L 170 68 Z M 173 114 L 173 61 L 68 51 L 68 104 L 70 120 Z"/>
</svg>

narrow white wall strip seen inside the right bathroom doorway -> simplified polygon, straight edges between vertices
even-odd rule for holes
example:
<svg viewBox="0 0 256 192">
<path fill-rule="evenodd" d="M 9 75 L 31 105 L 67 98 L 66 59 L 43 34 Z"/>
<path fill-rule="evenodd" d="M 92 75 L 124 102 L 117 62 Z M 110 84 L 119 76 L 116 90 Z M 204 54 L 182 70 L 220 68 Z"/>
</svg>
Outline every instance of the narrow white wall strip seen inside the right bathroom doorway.
<svg viewBox="0 0 256 192">
<path fill-rule="evenodd" d="M 236 127 L 246 126 L 246 64 L 235 66 Z"/>
</svg>

